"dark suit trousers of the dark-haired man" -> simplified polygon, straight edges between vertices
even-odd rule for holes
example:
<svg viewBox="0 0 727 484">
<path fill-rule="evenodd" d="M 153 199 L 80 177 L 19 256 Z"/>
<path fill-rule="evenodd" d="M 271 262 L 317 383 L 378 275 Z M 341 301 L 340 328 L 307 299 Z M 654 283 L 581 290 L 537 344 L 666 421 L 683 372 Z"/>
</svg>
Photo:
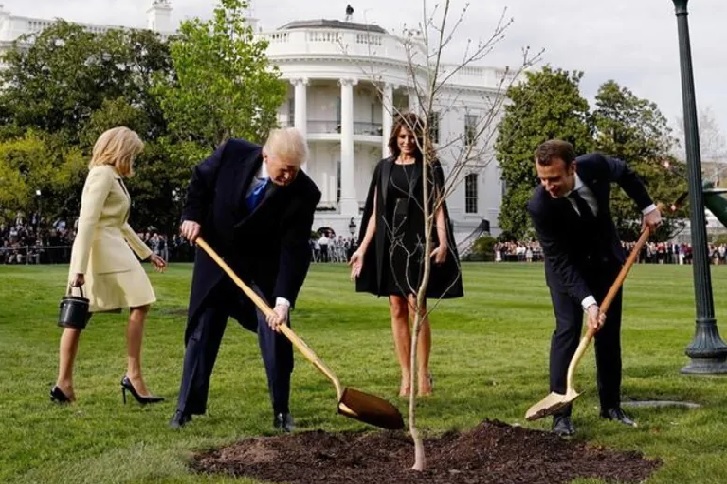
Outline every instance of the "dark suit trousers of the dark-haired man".
<svg viewBox="0 0 727 484">
<path fill-rule="evenodd" d="M 598 303 L 606 297 L 614 278 L 591 282 L 590 288 Z M 584 311 L 580 301 L 563 292 L 550 290 L 555 313 L 555 331 L 550 346 L 550 391 L 566 392 L 566 375 L 583 329 Z M 606 313 L 606 323 L 594 337 L 598 396 L 602 409 L 620 407 L 621 402 L 621 307 L 622 291 Z M 572 405 L 558 412 L 570 416 Z"/>
</svg>

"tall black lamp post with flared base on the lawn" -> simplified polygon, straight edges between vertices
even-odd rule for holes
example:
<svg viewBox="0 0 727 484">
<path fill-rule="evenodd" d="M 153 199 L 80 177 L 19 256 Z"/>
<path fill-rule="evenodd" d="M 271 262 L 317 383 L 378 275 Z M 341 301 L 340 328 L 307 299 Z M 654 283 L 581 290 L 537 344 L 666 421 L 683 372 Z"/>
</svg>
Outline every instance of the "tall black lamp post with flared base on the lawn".
<svg viewBox="0 0 727 484">
<path fill-rule="evenodd" d="M 702 170 L 699 158 L 699 127 L 697 101 L 694 95 L 692 52 L 687 22 L 688 0 L 672 0 L 676 9 L 679 28 L 679 57 L 682 71 L 682 109 L 684 111 L 684 138 L 687 155 L 689 204 L 691 205 L 691 233 L 694 270 L 694 292 L 697 304 L 697 327 L 694 340 L 685 353 L 691 358 L 682 373 L 727 373 L 727 345 L 719 337 L 717 319 L 714 317 L 712 277 L 707 254 L 707 229 L 702 197 Z"/>
</svg>

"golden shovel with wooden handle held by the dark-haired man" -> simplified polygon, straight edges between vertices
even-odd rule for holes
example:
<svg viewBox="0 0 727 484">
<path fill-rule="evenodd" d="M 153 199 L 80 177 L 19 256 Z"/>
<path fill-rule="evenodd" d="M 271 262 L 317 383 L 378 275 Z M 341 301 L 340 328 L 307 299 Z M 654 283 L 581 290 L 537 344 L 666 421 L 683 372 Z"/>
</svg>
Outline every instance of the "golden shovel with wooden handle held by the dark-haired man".
<svg viewBox="0 0 727 484">
<path fill-rule="evenodd" d="M 636 245 L 634 245 L 634 248 L 631 249 L 631 253 L 629 254 L 628 259 L 626 259 L 626 263 L 621 268 L 621 272 L 618 273 L 616 280 L 613 281 L 613 284 L 611 284 L 611 288 L 608 290 L 608 294 L 599 308 L 600 313 L 605 314 L 608 311 L 608 307 L 611 305 L 613 298 L 616 297 L 616 293 L 618 293 L 618 290 L 621 288 L 621 285 L 626 279 L 629 269 L 631 269 L 631 266 L 636 261 L 636 258 L 639 256 L 639 252 L 641 252 L 641 248 L 644 246 L 648 238 L 649 229 L 645 228 L 644 231 L 641 232 L 641 237 L 639 237 Z M 576 392 L 575 388 L 573 388 L 573 372 L 576 369 L 576 365 L 578 365 L 578 362 L 583 357 L 583 354 L 586 352 L 588 345 L 591 343 L 591 339 L 593 339 L 595 332 L 596 331 L 594 329 L 588 328 L 585 336 L 581 338 L 578 348 L 576 348 L 576 352 L 573 354 L 570 365 L 568 365 L 565 395 L 552 392 L 550 395 L 528 409 L 525 413 L 525 418 L 527 420 L 536 420 L 547 417 L 548 415 L 553 415 L 555 412 L 578 398 L 579 393 Z"/>
</svg>

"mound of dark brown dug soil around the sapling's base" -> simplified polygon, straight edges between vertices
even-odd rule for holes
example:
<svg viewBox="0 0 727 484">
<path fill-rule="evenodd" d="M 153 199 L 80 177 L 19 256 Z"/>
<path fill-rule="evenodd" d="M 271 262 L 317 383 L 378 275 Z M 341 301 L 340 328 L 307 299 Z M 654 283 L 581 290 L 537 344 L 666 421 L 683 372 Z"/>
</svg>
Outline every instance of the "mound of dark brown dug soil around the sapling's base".
<svg viewBox="0 0 727 484">
<path fill-rule="evenodd" d="M 279 484 L 560 483 L 576 478 L 640 482 L 661 465 L 639 452 L 562 440 L 549 432 L 485 420 L 425 443 L 428 469 L 409 470 L 414 447 L 403 432 L 300 432 L 245 439 L 198 454 L 198 472 Z"/>
</svg>

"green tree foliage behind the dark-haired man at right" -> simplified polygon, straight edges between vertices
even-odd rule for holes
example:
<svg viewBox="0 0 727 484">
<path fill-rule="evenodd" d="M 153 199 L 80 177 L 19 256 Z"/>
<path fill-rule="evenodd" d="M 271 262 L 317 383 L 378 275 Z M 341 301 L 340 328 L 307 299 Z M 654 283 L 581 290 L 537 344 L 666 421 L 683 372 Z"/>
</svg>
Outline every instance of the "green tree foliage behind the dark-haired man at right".
<svg viewBox="0 0 727 484">
<path fill-rule="evenodd" d="M 685 189 L 684 179 L 665 168 L 679 162 L 669 154 L 676 140 L 659 108 L 608 81 L 599 88 L 591 111 L 580 93 L 582 77 L 582 72 L 545 67 L 527 73 L 525 82 L 508 91 L 511 103 L 505 108 L 495 144 L 507 188 L 500 208 L 505 237 L 532 236 L 526 204 L 538 183 L 533 153 L 548 139 L 569 141 L 577 155 L 599 151 L 625 160 L 644 180 L 652 198 L 667 206 Z M 612 194 L 611 211 L 621 236 L 637 238 L 641 214 L 622 190 Z M 656 237 L 666 239 L 677 228 L 677 221 L 667 219 Z"/>
</svg>

